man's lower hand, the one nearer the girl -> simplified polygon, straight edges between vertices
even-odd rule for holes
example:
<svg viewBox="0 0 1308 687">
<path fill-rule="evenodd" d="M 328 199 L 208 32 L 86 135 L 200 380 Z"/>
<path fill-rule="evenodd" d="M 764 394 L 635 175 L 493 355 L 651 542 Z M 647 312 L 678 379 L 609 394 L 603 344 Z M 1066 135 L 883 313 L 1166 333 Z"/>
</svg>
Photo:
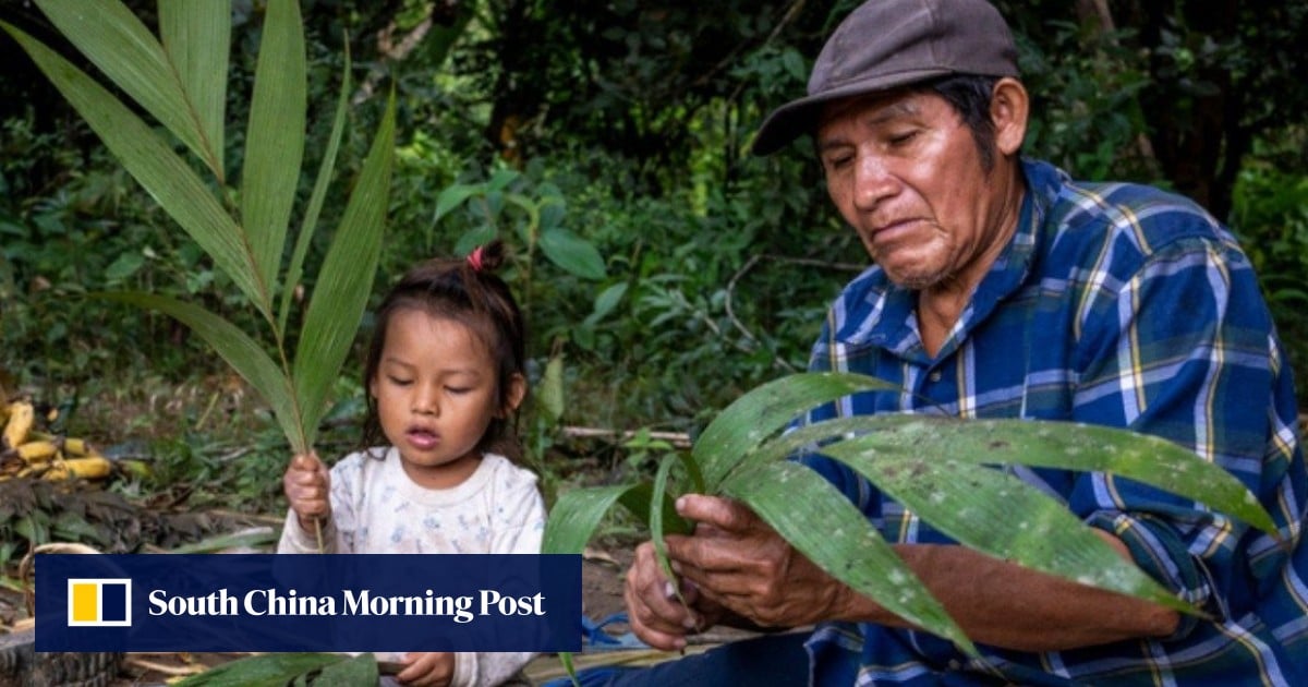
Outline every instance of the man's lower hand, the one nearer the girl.
<svg viewBox="0 0 1308 687">
<path fill-rule="evenodd" d="M 676 535 L 668 535 L 668 539 L 674 538 Z M 723 612 L 721 606 L 700 595 L 689 582 L 681 582 L 679 599 L 672 582 L 659 569 L 654 544 L 650 542 L 636 547 L 623 597 L 627 599 L 627 616 L 636 636 L 664 652 L 684 649 L 687 635 L 713 627 Z M 685 606 L 681 599 L 685 599 Z"/>
</svg>

